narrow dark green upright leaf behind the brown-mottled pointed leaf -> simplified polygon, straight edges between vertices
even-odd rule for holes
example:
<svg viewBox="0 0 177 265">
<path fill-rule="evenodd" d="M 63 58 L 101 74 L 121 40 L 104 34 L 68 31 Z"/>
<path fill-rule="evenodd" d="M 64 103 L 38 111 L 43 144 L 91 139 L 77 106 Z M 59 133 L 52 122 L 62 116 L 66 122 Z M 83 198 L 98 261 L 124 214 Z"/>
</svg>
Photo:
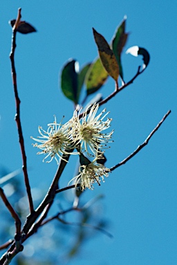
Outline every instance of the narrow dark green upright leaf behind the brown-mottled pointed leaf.
<svg viewBox="0 0 177 265">
<path fill-rule="evenodd" d="M 126 24 L 127 17 L 124 17 L 124 20 L 118 26 L 118 29 L 115 31 L 115 35 L 111 41 L 111 47 L 113 49 L 113 53 L 115 58 L 118 61 L 119 70 L 120 70 L 120 77 L 123 79 L 123 70 L 122 70 L 122 63 L 121 63 L 121 53 L 122 50 L 127 42 L 128 33 L 125 33 L 125 24 Z"/>
</svg>

